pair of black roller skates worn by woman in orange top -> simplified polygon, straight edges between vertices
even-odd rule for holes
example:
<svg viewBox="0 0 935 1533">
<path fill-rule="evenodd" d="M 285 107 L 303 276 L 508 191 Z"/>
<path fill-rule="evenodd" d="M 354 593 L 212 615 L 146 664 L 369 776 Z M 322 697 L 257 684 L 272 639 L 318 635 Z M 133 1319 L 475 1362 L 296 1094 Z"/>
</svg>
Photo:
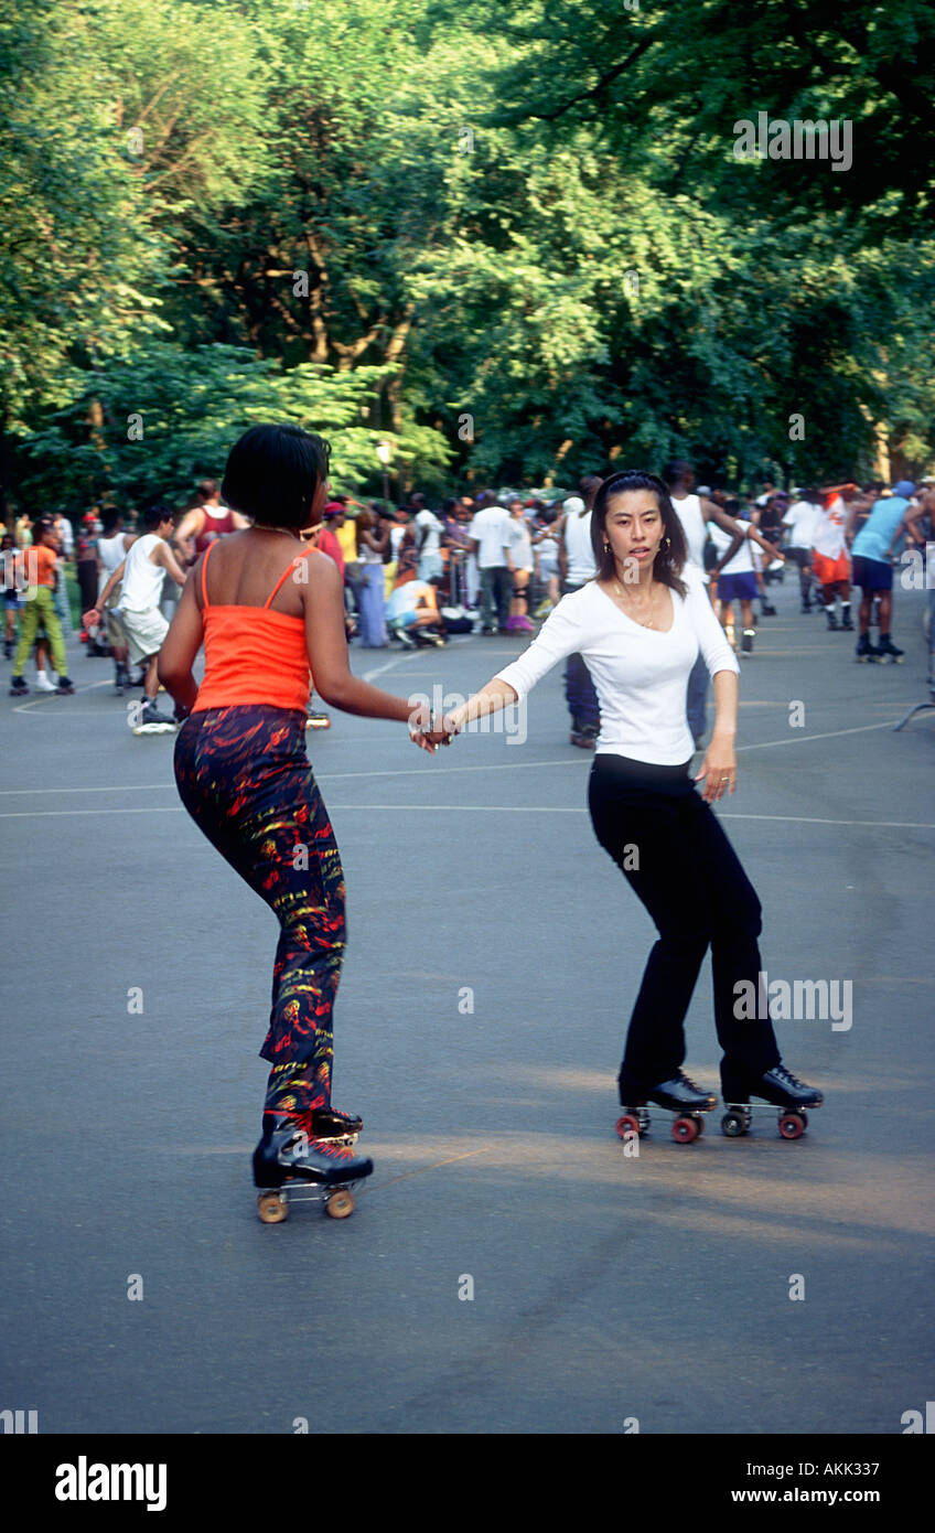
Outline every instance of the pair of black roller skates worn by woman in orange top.
<svg viewBox="0 0 935 1533">
<path fill-rule="evenodd" d="M 354 1211 L 353 1187 L 372 1173 L 374 1162 L 351 1154 L 342 1139 L 351 1124 L 363 1124 L 331 1110 L 316 1118 L 322 1127 L 339 1128 L 340 1136 L 319 1139 L 294 1118 L 264 1121 L 264 1136 L 253 1151 L 253 1183 L 259 1188 L 256 1211 L 264 1225 L 288 1219 L 290 1190 L 296 1194 L 294 1202 L 323 1203 L 331 1219 L 346 1219 Z"/>
</svg>

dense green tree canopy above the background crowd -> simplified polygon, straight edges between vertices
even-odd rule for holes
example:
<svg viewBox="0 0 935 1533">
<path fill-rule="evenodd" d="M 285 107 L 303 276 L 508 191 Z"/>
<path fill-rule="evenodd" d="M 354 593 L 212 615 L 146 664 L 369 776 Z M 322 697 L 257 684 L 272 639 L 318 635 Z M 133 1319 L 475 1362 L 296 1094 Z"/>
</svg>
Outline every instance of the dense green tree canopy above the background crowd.
<svg viewBox="0 0 935 1533">
<path fill-rule="evenodd" d="M 5 494 L 181 500 L 270 417 L 346 487 L 380 440 L 397 487 L 802 483 L 881 442 L 921 472 L 933 32 L 923 0 L 8 0 Z M 762 118 L 848 121 L 849 167 L 739 155 Z"/>
</svg>

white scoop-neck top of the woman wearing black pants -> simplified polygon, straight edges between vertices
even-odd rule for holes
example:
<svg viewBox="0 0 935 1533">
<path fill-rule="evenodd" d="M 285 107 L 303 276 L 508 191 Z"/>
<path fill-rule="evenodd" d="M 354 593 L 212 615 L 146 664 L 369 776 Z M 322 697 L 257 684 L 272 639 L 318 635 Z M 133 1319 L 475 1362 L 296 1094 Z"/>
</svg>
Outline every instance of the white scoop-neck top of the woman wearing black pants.
<svg viewBox="0 0 935 1533">
<path fill-rule="evenodd" d="M 497 671 L 523 699 L 567 655 L 582 655 L 601 704 L 598 751 L 677 766 L 693 751 L 685 717 L 688 673 L 699 653 L 708 673 L 740 667 L 725 639 L 700 573 L 682 570 L 685 596 L 671 590 L 668 633 L 627 618 L 605 590 L 589 581 L 563 596 L 529 648 Z"/>
</svg>

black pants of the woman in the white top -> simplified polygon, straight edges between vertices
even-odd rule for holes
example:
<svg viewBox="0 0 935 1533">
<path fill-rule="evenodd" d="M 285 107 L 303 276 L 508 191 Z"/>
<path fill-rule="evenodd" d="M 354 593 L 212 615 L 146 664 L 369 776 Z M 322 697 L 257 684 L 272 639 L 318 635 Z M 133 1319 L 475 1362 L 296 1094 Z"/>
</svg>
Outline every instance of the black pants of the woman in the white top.
<svg viewBox="0 0 935 1533">
<path fill-rule="evenodd" d="M 595 756 L 589 806 L 595 834 L 639 895 L 659 931 L 636 996 L 619 1073 L 621 1102 L 635 1105 L 670 1079 L 685 1058 L 685 1012 L 702 958 L 711 947 L 714 1021 L 723 1050 L 725 1098 L 779 1064 L 768 1016 L 734 1015 L 736 984 L 759 996 L 760 901 L 684 766 L 650 766 L 625 756 Z M 627 954 L 610 935 L 610 961 Z M 740 992 L 743 995 L 743 992 Z M 743 1012 L 748 1007 L 740 1006 Z M 759 1010 L 759 1007 L 757 1007 Z"/>
</svg>

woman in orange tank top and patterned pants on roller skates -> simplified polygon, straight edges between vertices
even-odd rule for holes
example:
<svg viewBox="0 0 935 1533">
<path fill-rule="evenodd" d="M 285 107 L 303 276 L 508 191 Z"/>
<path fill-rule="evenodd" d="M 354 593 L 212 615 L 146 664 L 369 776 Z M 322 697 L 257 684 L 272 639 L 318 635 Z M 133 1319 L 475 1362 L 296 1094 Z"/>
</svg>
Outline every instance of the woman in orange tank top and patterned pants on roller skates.
<svg viewBox="0 0 935 1533">
<path fill-rule="evenodd" d="M 224 498 L 253 520 L 193 566 L 159 655 L 184 717 L 175 776 L 189 814 L 279 920 L 273 1004 L 261 1058 L 271 1065 L 253 1156 L 261 1216 L 276 1190 L 369 1176 L 351 1153 L 360 1118 L 331 1105 L 331 1012 L 345 952 L 345 883 L 305 754 L 310 668 L 336 708 L 409 725 L 438 748 L 428 710 L 351 673 L 337 566 L 308 547 L 328 500 L 328 445 L 297 426 L 251 426 L 227 460 Z M 201 687 L 193 664 L 204 644 Z M 343 1205 L 348 1206 L 346 1203 Z"/>
</svg>

